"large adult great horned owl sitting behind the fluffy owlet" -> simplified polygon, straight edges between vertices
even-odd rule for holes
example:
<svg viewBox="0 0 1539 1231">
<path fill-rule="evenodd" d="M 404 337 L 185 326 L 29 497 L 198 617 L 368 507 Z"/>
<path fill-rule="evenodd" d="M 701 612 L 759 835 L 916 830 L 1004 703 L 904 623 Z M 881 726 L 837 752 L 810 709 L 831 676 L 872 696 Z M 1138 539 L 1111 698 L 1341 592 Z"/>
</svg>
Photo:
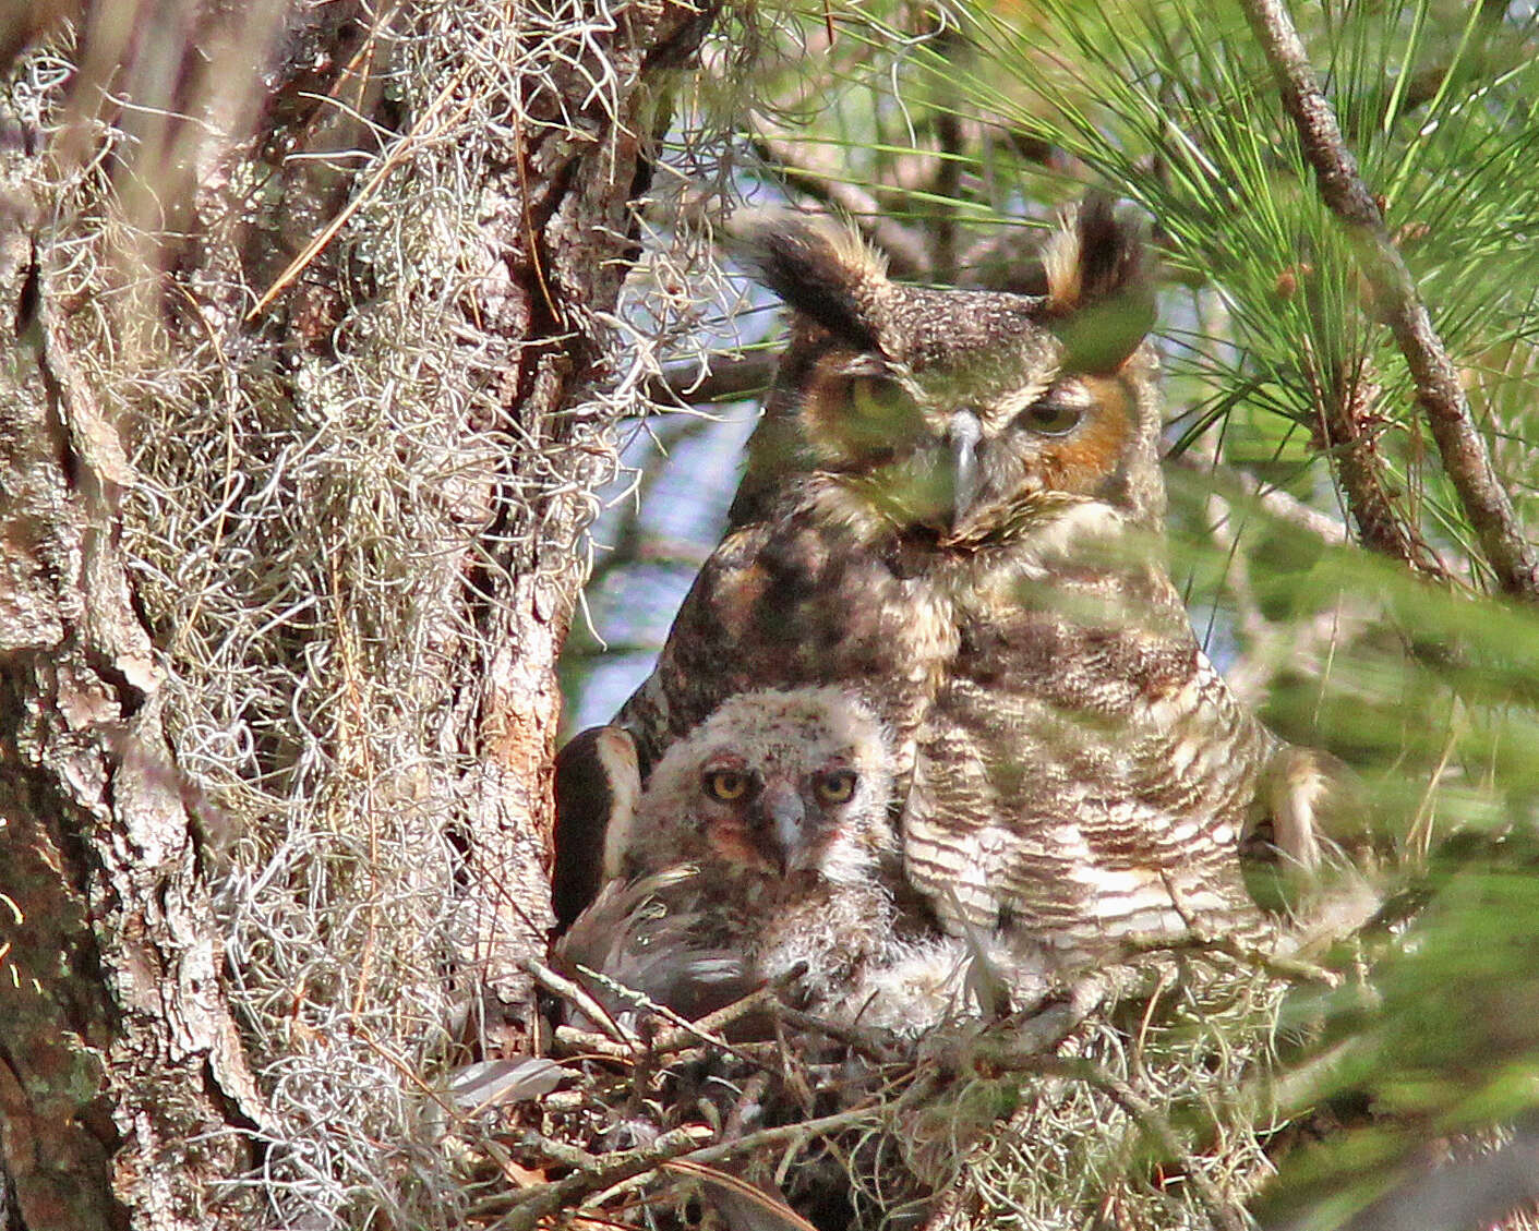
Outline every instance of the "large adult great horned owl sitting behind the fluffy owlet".
<svg viewBox="0 0 1539 1231">
<path fill-rule="evenodd" d="M 826 222 L 754 243 L 793 342 L 733 528 L 619 716 L 643 774 L 726 697 L 839 685 L 894 736 L 905 879 L 946 932 L 1079 960 L 1257 928 L 1242 832 L 1308 862 L 1317 776 L 1160 560 L 1136 237 L 1082 209 L 1042 295 L 900 286 Z"/>
</svg>

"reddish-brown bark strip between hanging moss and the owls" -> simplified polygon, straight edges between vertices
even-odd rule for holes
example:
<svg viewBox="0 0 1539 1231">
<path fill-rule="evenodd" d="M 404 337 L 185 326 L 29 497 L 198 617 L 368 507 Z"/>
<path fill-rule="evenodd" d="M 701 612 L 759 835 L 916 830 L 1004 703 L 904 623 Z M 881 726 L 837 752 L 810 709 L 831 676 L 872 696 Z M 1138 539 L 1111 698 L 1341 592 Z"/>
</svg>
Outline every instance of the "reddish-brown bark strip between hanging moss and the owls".
<svg viewBox="0 0 1539 1231">
<path fill-rule="evenodd" d="M 649 149 L 668 118 L 648 77 L 693 57 L 713 12 L 708 3 L 677 0 L 634 5 L 577 54 L 562 46 L 559 12 L 543 29 L 536 20 L 514 31 L 540 71 L 519 83 L 522 97 L 502 100 L 509 125 L 486 155 L 486 274 L 469 312 L 512 357 L 497 426 L 534 445 L 509 452 L 492 503 L 489 540 L 508 545 L 494 559 L 509 580 L 474 579 L 489 595 L 477 608 L 482 643 L 494 646 L 482 668 L 476 742 L 483 771 L 469 816 L 472 897 L 483 920 L 476 943 L 485 983 L 505 1003 L 526 994 L 520 963 L 551 922 L 540 869 L 553 831 L 556 659 L 583 582 L 577 540 L 586 519 L 582 502 L 546 494 L 531 505 L 517 492 L 537 488 L 548 459 L 569 449 L 580 431 L 576 402 L 602 377 L 609 339 L 599 314 L 614 309 L 639 251 L 633 194 L 649 182 Z M 619 83 L 611 97 L 593 89 L 606 74 Z M 582 459 L 576 468 L 569 479 L 593 482 Z"/>
</svg>

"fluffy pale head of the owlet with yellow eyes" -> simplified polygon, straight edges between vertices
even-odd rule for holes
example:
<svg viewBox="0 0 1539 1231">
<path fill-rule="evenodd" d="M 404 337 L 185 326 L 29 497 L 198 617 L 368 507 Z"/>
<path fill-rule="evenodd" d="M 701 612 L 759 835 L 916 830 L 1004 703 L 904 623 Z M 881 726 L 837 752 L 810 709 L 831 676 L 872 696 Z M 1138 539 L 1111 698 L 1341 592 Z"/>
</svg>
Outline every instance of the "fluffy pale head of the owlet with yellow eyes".
<svg viewBox="0 0 1539 1231">
<path fill-rule="evenodd" d="M 865 882 L 894 843 L 891 796 L 885 731 L 859 702 L 837 688 L 742 692 L 653 769 L 626 871 Z"/>
</svg>

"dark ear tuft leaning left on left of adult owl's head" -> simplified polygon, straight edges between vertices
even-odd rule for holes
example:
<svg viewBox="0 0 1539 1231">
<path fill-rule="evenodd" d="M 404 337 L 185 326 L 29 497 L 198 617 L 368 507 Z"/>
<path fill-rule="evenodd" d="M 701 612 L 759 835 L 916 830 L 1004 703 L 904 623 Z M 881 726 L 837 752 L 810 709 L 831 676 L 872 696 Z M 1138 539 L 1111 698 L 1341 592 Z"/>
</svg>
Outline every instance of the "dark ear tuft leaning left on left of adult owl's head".
<svg viewBox="0 0 1539 1231">
<path fill-rule="evenodd" d="M 733 220 L 733 255 L 797 312 L 859 351 L 885 354 L 886 259 L 846 225 L 790 209 Z"/>
</svg>

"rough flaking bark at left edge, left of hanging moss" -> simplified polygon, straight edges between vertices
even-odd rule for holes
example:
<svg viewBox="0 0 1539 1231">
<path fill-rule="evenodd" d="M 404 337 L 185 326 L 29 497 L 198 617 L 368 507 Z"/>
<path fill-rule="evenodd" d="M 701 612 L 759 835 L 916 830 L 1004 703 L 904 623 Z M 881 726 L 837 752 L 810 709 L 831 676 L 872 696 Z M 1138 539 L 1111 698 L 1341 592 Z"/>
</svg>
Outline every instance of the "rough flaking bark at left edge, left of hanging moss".
<svg viewBox="0 0 1539 1231">
<path fill-rule="evenodd" d="M 263 1117 L 162 683 L 117 545 L 132 480 L 40 288 L 35 166 L 0 234 L 0 1165 L 8 1226 L 199 1226 Z"/>
</svg>

